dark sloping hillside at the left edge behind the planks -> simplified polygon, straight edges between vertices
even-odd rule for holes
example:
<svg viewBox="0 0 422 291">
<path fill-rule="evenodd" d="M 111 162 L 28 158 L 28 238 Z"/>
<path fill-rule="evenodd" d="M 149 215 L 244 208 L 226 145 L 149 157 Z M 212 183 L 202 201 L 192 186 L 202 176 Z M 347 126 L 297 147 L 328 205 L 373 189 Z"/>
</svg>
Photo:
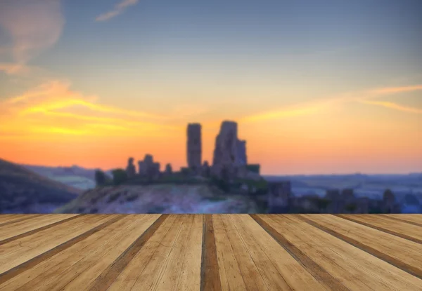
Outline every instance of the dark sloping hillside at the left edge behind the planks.
<svg viewBox="0 0 422 291">
<path fill-rule="evenodd" d="M 79 194 L 79 189 L 0 159 L 0 213 L 47 213 Z"/>
</svg>

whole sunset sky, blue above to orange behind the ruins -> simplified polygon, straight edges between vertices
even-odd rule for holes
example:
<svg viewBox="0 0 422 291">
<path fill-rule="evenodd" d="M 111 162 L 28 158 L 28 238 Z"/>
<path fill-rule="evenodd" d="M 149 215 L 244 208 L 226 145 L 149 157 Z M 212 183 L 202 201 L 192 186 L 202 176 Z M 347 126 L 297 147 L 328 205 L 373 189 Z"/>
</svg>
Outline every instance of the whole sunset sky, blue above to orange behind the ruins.
<svg viewBox="0 0 422 291">
<path fill-rule="evenodd" d="M 2 0 L 0 158 L 212 161 L 237 121 L 266 175 L 422 172 L 422 1 Z"/>
</svg>

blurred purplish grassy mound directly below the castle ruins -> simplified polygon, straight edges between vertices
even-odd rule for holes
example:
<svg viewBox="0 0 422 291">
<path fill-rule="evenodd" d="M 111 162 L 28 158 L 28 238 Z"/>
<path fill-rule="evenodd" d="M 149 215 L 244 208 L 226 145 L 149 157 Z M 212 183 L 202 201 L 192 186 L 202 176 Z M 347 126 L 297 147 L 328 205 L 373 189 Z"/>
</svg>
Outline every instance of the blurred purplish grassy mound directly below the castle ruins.
<svg viewBox="0 0 422 291">
<path fill-rule="evenodd" d="M 207 184 L 98 187 L 58 208 L 57 213 L 256 213 L 257 201 L 222 194 Z"/>
</svg>

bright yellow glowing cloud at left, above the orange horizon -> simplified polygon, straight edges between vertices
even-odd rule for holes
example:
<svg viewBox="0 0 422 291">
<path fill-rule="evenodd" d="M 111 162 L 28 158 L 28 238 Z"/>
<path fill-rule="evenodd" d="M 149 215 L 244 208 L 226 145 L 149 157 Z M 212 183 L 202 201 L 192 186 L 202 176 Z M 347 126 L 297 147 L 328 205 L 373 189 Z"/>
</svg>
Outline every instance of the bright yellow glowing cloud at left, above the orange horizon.
<svg viewBox="0 0 422 291">
<path fill-rule="evenodd" d="M 98 97 L 77 93 L 63 81 L 44 83 L 0 102 L 0 123 L 4 136 L 159 135 L 178 129 L 167 123 L 167 116 L 101 104 Z"/>
</svg>

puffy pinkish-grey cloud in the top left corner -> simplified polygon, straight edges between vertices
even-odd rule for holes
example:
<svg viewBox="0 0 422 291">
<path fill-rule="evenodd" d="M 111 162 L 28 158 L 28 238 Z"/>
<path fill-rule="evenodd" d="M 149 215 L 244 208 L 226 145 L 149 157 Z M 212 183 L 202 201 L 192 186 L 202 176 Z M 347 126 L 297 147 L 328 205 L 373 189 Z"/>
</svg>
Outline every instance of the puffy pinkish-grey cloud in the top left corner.
<svg viewBox="0 0 422 291">
<path fill-rule="evenodd" d="M 0 70 L 27 72 L 27 62 L 58 41 L 64 23 L 60 0 L 1 1 L 0 27 L 11 37 L 11 44 L 1 48 L 1 57 L 11 57 L 13 63 L 2 62 Z"/>
</svg>

